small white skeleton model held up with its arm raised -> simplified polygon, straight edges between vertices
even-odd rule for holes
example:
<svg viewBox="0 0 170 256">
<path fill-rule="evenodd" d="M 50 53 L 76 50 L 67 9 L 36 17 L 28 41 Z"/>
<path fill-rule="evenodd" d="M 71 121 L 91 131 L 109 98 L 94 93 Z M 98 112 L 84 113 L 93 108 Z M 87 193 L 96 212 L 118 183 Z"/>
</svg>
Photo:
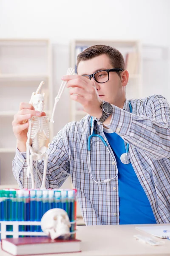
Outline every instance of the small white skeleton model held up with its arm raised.
<svg viewBox="0 0 170 256">
<path fill-rule="evenodd" d="M 67 71 L 67 75 L 73 75 L 74 70 L 72 68 L 69 68 Z M 45 94 L 40 94 L 40 89 L 42 87 L 42 84 L 44 82 L 42 81 L 35 93 L 32 93 L 30 104 L 33 105 L 35 111 L 43 112 L 44 110 L 44 96 Z M 54 108 L 52 112 L 52 116 L 50 119 L 50 122 L 54 122 L 54 112 L 57 105 L 57 102 L 59 101 L 64 88 L 66 86 L 67 82 L 62 81 L 61 86 L 59 87 L 59 92 L 57 94 L 57 97 L 55 98 Z M 41 189 L 46 189 L 45 187 L 45 180 L 46 180 L 46 172 L 47 172 L 47 163 L 48 163 L 48 154 L 47 154 L 47 147 L 41 146 L 42 141 L 46 141 L 49 138 L 49 130 L 48 130 L 48 117 L 47 116 L 33 116 L 31 119 L 29 119 L 29 126 L 28 126 L 28 133 L 27 133 L 27 142 L 26 142 L 26 160 L 27 160 L 27 176 L 29 177 L 31 174 L 31 184 L 32 189 L 35 189 L 37 187 L 37 161 L 41 161 L 44 159 L 44 171 L 43 171 L 43 177 L 42 177 L 42 184 Z M 35 167 L 36 167 L 36 180 L 34 181 L 34 172 L 33 172 L 33 161 L 35 161 Z"/>
</svg>

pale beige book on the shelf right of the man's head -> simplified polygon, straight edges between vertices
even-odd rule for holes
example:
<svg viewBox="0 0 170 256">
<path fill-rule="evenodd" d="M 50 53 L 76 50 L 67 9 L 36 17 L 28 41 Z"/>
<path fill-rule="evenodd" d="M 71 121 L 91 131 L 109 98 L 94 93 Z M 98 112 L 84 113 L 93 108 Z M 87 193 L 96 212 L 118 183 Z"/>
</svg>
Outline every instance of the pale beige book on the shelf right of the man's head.
<svg viewBox="0 0 170 256">
<path fill-rule="evenodd" d="M 128 52 L 125 57 L 125 69 L 130 75 L 138 73 L 138 58 L 137 52 Z"/>
</svg>

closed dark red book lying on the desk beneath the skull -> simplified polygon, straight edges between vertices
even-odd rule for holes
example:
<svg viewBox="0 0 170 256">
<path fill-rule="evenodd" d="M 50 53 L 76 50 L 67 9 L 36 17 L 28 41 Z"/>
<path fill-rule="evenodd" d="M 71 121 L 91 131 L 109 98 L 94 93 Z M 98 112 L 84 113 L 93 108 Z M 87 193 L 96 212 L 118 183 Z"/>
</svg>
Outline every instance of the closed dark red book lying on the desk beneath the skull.
<svg viewBox="0 0 170 256">
<path fill-rule="evenodd" d="M 52 240 L 49 237 L 19 237 L 6 238 L 1 241 L 2 250 L 14 256 L 36 255 L 50 253 L 76 253 L 81 252 L 81 241 L 72 240 Z"/>
</svg>

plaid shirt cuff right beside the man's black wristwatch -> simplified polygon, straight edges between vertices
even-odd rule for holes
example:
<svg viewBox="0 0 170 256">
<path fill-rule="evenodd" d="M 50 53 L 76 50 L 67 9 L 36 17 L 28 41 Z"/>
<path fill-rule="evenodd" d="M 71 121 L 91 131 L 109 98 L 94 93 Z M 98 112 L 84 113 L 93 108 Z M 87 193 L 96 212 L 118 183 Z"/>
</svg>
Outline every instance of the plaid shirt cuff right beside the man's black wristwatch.
<svg viewBox="0 0 170 256">
<path fill-rule="evenodd" d="M 127 135 L 132 124 L 132 114 L 114 105 L 111 122 L 106 127 L 120 135 Z"/>
</svg>

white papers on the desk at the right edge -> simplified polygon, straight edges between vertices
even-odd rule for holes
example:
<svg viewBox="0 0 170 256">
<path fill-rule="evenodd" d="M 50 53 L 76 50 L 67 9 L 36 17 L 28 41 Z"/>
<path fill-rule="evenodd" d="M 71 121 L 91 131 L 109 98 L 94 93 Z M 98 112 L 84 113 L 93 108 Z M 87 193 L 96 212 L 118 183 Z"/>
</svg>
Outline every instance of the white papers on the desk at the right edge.
<svg viewBox="0 0 170 256">
<path fill-rule="evenodd" d="M 144 231 L 150 235 L 159 237 L 159 238 L 169 238 L 170 239 L 170 225 L 167 226 L 157 226 L 157 227 L 136 227 L 137 230 Z"/>
</svg>

